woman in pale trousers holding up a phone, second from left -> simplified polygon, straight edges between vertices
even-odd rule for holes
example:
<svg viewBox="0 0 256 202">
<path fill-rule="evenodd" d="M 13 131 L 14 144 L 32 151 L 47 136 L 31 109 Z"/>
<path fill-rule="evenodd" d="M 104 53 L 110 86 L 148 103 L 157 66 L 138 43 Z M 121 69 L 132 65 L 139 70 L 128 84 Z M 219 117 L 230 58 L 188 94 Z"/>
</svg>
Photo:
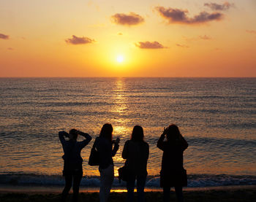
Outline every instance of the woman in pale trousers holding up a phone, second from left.
<svg viewBox="0 0 256 202">
<path fill-rule="evenodd" d="M 120 139 L 113 141 L 113 127 L 110 123 L 105 123 L 99 133 L 99 137 L 95 139 L 95 147 L 99 152 L 99 174 L 100 188 L 99 201 L 108 201 L 113 179 L 114 179 L 114 163 L 113 157 L 119 148 Z M 114 147 L 113 147 L 114 144 Z"/>
</svg>

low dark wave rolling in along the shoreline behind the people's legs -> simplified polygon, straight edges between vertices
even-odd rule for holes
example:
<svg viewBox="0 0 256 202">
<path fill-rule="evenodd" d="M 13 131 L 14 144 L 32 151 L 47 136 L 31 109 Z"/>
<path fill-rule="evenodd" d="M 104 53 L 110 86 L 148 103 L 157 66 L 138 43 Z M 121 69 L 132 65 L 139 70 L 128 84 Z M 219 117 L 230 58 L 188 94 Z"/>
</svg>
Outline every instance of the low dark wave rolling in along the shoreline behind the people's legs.
<svg viewBox="0 0 256 202">
<path fill-rule="evenodd" d="M 64 177 L 60 175 L 42 174 L 0 174 L 0 184 L 10 185 L 38 185 L 38 186 L 60 186 L 64 185 Z M 119 183 L 115 177 L 113 187 L 125 187 L 125 182 Z M 231 185 L 256 184 L 256 176 L 236 175 L 209 175 L 198 174 L 188 176 L 188 187 L 218 187 Z M 83 176 L 82 187 L 99 187 L 99 176 Z M 159 176 L 148 176 L 146 187 L 159 187 Z"/>
</svg>

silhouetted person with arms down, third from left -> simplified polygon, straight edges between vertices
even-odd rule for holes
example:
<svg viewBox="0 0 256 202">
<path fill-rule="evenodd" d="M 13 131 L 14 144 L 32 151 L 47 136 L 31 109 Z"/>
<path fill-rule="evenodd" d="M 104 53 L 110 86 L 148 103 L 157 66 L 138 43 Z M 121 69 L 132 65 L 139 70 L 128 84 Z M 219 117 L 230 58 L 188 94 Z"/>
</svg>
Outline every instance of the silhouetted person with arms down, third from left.
<svg viewBox="0 0 256 202">
<path fill-rule="evenodd" d="M 148 143 L 143 140 L 143 128 L 135 125 L 132 130 L 132 138 L 124 144 L 122 158 L 126 159 L 125 165 L 129 173 L 127 181 L 127 201 L 133 201 L 133 193 L 135 188 L 135 179 L 137 179 L 138 201 L 145 201 L 144 187 L 146 183 L 147 161 L 149 147 Z"/>
</svg>

